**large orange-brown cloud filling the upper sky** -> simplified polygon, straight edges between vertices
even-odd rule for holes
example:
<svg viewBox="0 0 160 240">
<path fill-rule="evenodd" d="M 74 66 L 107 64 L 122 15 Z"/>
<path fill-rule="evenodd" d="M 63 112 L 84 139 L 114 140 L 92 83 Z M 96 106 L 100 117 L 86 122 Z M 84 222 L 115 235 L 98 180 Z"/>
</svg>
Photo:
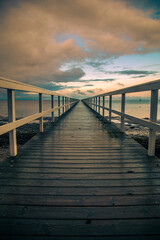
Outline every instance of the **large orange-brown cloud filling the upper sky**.
<svg viewBox="0 0 160 240">
<path fill-rule="evenodd" d="M 110 57 L 160 50 L 160 21 L 127 3 L 1 1 L 1 74 L 38 86 L 52 81 L 75 82 L 84 76 L 84 71 L 75 68 L 62 72 L 59 69 L 63 64 L 87 60 L 102 70 L 103 60 Z M 56 36 L 62 37 L 57 40 Z"/>
</svg>

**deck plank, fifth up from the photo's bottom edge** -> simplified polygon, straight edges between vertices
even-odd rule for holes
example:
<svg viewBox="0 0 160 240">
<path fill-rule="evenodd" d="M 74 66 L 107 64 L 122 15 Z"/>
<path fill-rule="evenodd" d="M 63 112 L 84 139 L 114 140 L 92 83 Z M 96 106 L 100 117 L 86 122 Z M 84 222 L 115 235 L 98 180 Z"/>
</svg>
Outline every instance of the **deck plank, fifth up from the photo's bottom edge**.
<svg viewBox="0 0 160 240">
<path fill-rule="evenodd" d="M 76 187 L 75 187 L 76 188 Z M 70 189 L 67 189 L 67 195 L 68 194 L 72 194 L 71 191 L 82 191 L 82 193 L 84 192 L 86 195 L 86 192 L 88 192 L 88 188 L 83 188 L 83 187 L 78 187 L 78 189 L 76 190 L 74 187 L 70 187 Z M 0 186 L 0 193 L 3 194 L 13 194 L 15 195 L 15 193 L 17 193 L 17 195 L 55 195 L 56 192 L 56 188 L 53 187 L 34 187 L 34 186 Z M 61 187 L 62 193 L 63 193 L 63 189 Z M 103 196 L 135 196 L 135 195 L 159 195 L 160 194 L 160 186 L 122 186 L 121 188 L 119 187 L 101 187 L 101 188 L 96 188 L 96 187 L 92 187 L 91 188 L 92 191 L 94 191 L 95 193 L 99 194 L 99 195 L 95 195 L 95 204 L 97 202 L 99 202 L 99 199 L 101 199 L 101 204 L 102 201 L 103 205 L 106 204 L 106 199 L 105 197 L 103 198 Z M 76 193 L 76 192 L 75 192 Z M 64 197 L 65 195 L 63 195 Z M 56 196 L 54 196 L 55 199 Z M 144 197 L 144 201 L 145 201 L 145 196 Z M 69 198 L 69 195 L 67 196 L 67 199 Z M 73 201 L 72 203 L 76 203 L 78 200 L 79 196 L 73 196 Z M 90 198 L 94 199 L 94 196 Z M 79 198 L 81 199 L 81 198 Z M 86 196 L 84 197 L 84 199 L 86 199 Z M 134 199 L 134 198 L 133 198 Z M 61 198 L 58 198 L 59 204 L 61 203 Z M 71 199 L 70 199 L 71 201 Z M 62 201 L 64 204 L 64 201 Z M 93 202 L 93 201 L 92 201 Z M 128 201 L 129 202 L 129 201 Z M 67 204 L 67 202 L 66 202 Z M 82 203 L 81 203 L 82 204 Z M 124 201 L 125 204 L 125 201 Z"/>
</svg>

